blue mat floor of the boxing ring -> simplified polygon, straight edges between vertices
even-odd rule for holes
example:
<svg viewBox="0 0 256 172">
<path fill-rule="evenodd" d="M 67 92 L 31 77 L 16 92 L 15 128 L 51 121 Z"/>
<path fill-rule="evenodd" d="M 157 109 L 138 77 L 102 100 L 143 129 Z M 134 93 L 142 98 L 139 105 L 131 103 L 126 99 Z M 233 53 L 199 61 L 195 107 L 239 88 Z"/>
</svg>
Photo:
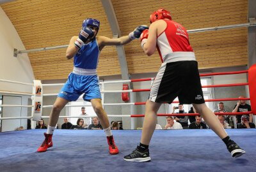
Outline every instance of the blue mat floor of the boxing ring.
<svg viewBox="0 0 256 172">
<path fill-rule="evenodd" d="M 54 146 L 36 149 L 45 130 L 0 133 L 0 171 L 255 171 L 256 129 L 228 129 L 246 150 L 234 159 L 210 129 L 155 131 L 150 145 L 151 162 L 127 162 L 140 142 L 141 131 L 113 131 L 118 155 L 109 155 L 103 131 L 56 130 Z"/>
</svg>

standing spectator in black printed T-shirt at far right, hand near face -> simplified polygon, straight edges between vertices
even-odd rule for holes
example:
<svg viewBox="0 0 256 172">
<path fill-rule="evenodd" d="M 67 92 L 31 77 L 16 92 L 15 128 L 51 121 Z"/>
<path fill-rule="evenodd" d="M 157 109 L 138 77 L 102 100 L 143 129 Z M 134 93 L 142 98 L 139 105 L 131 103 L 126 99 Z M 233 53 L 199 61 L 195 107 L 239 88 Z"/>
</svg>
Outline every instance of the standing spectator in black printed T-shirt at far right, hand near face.
<svg viewBox="0 0 256 172">
<path fill-rule="evenodd" d="M 239 98 L 245 98 L 245 97 L 239 96 Z M 244 112 L 244 111 L 251 111 L 251 106 L 249 104 L 246 104 L 246 101 L 239 100 L 232 112 L 236 113 L 236 112 Z M 237 118 L 237 124 L 241 123 L 241 115 L 236 115 L 236 118 Z M 249 114 L 249 122 L 252 122 L 252 113 Z"/>
</svg>

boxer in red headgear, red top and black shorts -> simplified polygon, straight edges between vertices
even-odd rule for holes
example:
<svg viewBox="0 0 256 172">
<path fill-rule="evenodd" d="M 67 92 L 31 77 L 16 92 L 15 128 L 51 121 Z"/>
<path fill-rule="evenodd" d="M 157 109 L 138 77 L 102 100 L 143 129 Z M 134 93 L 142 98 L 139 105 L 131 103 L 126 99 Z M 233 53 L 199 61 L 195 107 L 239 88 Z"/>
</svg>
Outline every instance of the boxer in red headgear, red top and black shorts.
<svg viewBox="0 0 256 172">
<path fill-rule="evenodd" d="M 232 157 L 245 153 L 227 135 L 214 113 L 205 105 L 202 85 L 198 72 L 195 53 L 189 44 L 188 32 L 172 20 L 170 12 L 159 9 L 150 15 L 150 27 L 142 32 L 141 47 L 148 56 L 158 50 L 163 62 L 152 83 L 146 103 L 140 145 L 125 161 L 150 161 L 148 145 L 154 133 L 157 111 L 162 103 L 172 103 L 179 97 L 182 104 L 193 104 L 196 111 L 204 118 L 209 127 L 223 140 Z"/>
</svg>

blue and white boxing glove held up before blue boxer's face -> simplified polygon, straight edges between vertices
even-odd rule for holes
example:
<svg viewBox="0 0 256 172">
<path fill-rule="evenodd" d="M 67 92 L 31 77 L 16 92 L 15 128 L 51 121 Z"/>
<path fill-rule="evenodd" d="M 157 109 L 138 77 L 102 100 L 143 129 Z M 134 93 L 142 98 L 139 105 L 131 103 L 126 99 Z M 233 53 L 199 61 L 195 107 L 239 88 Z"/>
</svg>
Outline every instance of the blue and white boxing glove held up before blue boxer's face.
<svg viewBox="0 0 256 172">
<path fill-rule="evenodd" d="M 76 39 L 75 46 L 80 49 L 83 47 L 84 43 L 86 43 L 88 39 L 93 38 L 93 36 L 94 32 L 90 27 L 83 27 Z"/>
</svg>

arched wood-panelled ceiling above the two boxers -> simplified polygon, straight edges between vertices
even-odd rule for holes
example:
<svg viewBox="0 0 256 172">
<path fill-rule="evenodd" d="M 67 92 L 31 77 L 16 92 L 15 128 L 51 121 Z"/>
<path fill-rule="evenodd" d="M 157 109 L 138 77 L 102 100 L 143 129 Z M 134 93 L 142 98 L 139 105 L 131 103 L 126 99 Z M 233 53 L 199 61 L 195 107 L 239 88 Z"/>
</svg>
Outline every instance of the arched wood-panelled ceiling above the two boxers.
<svg viewBox="0 0 256 172">
<path fill-rule="evenodd" d="M 113 10 L 122 35 L 129 34 L 138 25 L 149 25 L 149 15 L 158 8 L 171 11 L 173 20 L 187 29 L 242 24 L 247 20 L 246 0 L 113 0 Z M 84 18 L 100 20 L 98 35 L 113 37 L 100 0 L 17 0 L 1 3 L 6 15 L 17 30 L 26 50 L 67 45 L 77 35 Z M 217 31 L 191 34 L 191 45 L 200 68 L 246 65 L 247 30 Z M 36 79 L 67 78 L 72 61 L 65 58 L 65 48 L 28 54 Z M 140 41 L 125 45 L 129 73 L 156 72 L 161 62 L 156 54 L 147 57 Z M 235 59 L 234 61 L 232 59 Z M 120 75 L 116 47 L 106 47 L 100 55 L 100 76 Z"/>
</svg>

